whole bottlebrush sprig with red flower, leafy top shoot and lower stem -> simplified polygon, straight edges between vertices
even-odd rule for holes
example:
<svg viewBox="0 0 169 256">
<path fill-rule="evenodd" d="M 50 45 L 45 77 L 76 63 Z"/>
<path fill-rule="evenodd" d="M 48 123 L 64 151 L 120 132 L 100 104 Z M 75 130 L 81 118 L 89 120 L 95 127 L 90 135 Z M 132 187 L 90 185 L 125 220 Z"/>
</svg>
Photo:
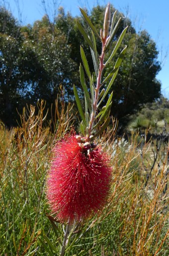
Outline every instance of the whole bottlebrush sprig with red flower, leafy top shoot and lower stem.
<svg viewBox="0 0 169 256">
<path fill-rule="evenodd" d="M 99 34 L 84 10 L 80 10 L 91 29 L 91 34 L 87 35 L 83 26 L 77 20 L 78 28 L 91 50 L 95 76 L 90 73 L 84 49 L 81 47 L 83 65 L 80 65 L 80 80 L 84 91 L 84 109 L 78 90 L 74 86 L 74 94 L 82 118 L 81 132 L 76 133 L 72 130 L 56 143 L 47 177 L 47 199 L 51 211 L 58 221 L 68 225 L 61 255 L 64 254 L 71 225 L 76 222 L 83 222 L 98 211 L 100 212 L 105 206 L 110 193 L 112 173 L 110 156 L 102 150 L 102 145 L 97 144 L 96 138 L 109 125 L 109 114 L 112 105 L 110 88 L 126 52 L 125 47 L 118 56 L 111 73 L 102 80 L 102 71 L 115 56 L 127 27 L 119 36 L 110 56 L 106 56 L 106 61 L 104 61 L 107 50 L 111 48 L 120 19 L 115 25 L 116 11 L 111 18 L 110 4 L 108 3 L 105 10 L 103 30 L 100 29 Z M 95 36 L 102 43 L 100 55 L 96 49 Z M 84 70 L 88 77 L 87 83 Z M 93 77 L 96 77 L 96 79 L 94 80 Z M 108 95 L 108 101 L 105 102 L 105 97 Z M 103 100 L 105 105 L 99 111 L 99 106 Z"/>
</svg>

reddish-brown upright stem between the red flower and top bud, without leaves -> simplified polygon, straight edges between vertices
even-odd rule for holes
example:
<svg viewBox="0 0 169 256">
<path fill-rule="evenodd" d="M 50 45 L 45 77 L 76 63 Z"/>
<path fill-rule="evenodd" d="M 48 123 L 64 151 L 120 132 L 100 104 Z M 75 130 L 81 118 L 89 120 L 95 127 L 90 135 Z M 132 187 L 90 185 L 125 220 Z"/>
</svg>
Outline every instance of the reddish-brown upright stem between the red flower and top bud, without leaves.
<svg viewBox="0 0 169 256">
<path fill-rule="evenodd" d="M 87 140 L 90 140 L 90 135 L 91 135 L 91 130 L 92 130 L 92 126 L 93 126 L 93 122 L 94 122 L 94 117 L 97 111 L 97 103 L 98 103 L 98 96 L 99 96 L 99 89 L 101 86 L 101 75 L 102 75 L 102 71 L 104 68 L 104 55 L 105 55 L 105 43 L 106 43 L 106 38 L 102 39 L 102 51 L 101 51 L 101 55 L 100 55 L 100 65 L 99 65 L 99 71 L 98 71 L 98 76 L 97 76 L 97 84 L 96 84 L 96 88 L 95 88 L 95 95 L 94 95 L 94 102 L 93 102 L 93 108 L 92 108 L 92 113 L 91 113 L 91 117 L 90 117 L 90 123 L 89 123 L 89 127 L 88 127 L 88 135 L 87 135 Z"/>
</svg>

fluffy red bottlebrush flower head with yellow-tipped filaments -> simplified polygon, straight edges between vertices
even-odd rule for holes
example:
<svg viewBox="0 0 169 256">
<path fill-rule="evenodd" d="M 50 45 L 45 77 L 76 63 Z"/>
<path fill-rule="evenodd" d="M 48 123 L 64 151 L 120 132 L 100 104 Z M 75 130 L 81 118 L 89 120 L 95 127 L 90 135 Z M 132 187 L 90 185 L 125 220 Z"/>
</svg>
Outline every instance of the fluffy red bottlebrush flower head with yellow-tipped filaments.
<svg viewBox="0 0 169 256">
<path fill-rule="evenodd" d="M 101 210 L 110 189 L 110 161 L 101 148 L 88 153 L 74 134 L 56 143 L 47 177 L 47 199 L 60 221 L 86 219 Z"/>
</svg>

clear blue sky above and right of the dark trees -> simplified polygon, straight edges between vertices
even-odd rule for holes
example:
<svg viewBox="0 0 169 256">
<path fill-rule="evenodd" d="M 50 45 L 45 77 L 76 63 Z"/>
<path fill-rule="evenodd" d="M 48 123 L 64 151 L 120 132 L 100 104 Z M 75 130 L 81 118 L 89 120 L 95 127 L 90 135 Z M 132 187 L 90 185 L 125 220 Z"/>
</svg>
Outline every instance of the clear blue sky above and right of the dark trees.
<svg viewBox="0 0 169 256">
<path fill-rule="evenodd" d="M 41 0 L 9 0 L 10 10 L 16 18 L 18 18 L 17 2 L 22 24 L 32 24 L 35 20 L 41 19 L 45 13 Z M 52 0 L 46 0 L 46 2 L 52 2 Z M 105 0 L 58 0 L 57 2 L 58 6 L 63 6 L 66 12 L 70 11 L 74 16 L 80 14 L 79 6 L 89 9 L 97 3 L 101 5 L 107 3 Z M 169 99 L 169 54 L 167 55 L 169 52 L 169 0 L 110 0 L 110 3 L 124 14 L 128 13 L 136 30 L 146 29 L 156 42 L 159 60 L 162 62 L 162 70 L 157 79 L 162 83 L 163 95 Z"/>
</svg>

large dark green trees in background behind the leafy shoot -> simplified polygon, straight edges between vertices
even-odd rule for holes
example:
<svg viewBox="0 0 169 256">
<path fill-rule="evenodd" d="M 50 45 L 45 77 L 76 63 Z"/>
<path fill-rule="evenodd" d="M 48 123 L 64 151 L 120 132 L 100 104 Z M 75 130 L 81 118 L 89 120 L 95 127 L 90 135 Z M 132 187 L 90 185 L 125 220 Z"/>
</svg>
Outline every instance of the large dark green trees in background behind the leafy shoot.
<svg viewBox="0 0 169 256">
<path fill-rule="evenodd" d="M 96 28 L 102 24 L 103 10 L 104 7 L 98 5 L 88 13 Z M 161 84 L 156 75 L 161 66 L 157 61 L 156 44 L 148 32 L 136 33 L 130 19 L 120 12 L 117 12 L 115 22 L 119 17 L 118 34 L 109 51 L 126 25 L 128 30 L 121 47 L 128 47 L 113 83 L 110 114 L 124 123 L 125 117 L 142 104 L 160 97 Z M 77 19 L 88 32 L 82 17 Z M 80 44 L 85 48 L 89 68 L 94 72 L 89 46 L 84 43 L 72 15 L 65 14 L 63 8 L 59 9 L 53 21 L 49 15 L 45 15 L 32 26 L 19 26 L 11 13 L 0 8 L 0 119 L 6 125 L 16 124 L 16 108 L 21 112 L 25 103 L 36 104 L 37 100 L 43 98 L 50 107 L 57 97 L 60 84 L 65 88 L 66 100 L 73 100 L 73 84 L 80 87 L 77 72 L 81 62 Z M 100 50 L 101 45 L 98 52 Z M 109 63 L 104 77 L 113 70 L 117 55 Z M 6 119 L 6 116 L 9 118 Z"/>
</svg>

